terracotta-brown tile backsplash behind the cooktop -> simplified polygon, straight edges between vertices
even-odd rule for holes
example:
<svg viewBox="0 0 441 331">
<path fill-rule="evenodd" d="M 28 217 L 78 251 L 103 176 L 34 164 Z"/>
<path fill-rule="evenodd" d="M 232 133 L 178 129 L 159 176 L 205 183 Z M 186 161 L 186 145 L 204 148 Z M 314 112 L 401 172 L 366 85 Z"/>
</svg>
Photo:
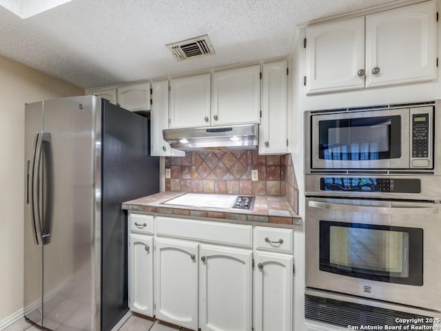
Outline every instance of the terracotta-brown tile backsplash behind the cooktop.
<svg viewBox="0 0 441 331">
<path fill-rule="evenodd" d="M 165 190 L 219 194 L 286 196 L 296 206 L 297 186 L 291 154 L 260 156 L 256 151 L 187 152 L 166 157 Z M 258 181 L 252 181 L 258 170 Z"/>
</svg>

